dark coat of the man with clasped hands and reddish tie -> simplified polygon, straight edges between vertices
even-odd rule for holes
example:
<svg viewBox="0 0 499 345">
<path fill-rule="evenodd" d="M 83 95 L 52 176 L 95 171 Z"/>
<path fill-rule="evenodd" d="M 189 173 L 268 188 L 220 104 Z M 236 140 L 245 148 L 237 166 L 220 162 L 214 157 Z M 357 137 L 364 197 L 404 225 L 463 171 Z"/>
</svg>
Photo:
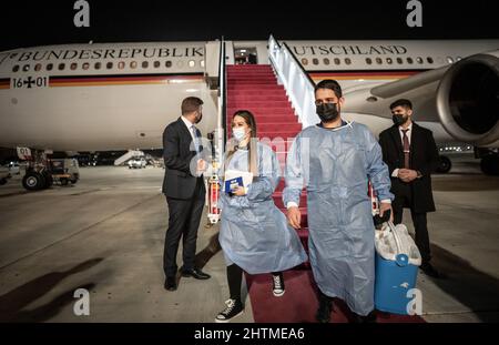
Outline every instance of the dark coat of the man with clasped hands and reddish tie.
<svg viewBox="0 0 499 345">
<path fill-rule="evenodd" d="M 413 204 L 415 212 L 435 211 L 431 193 L 431 172 L 438 164 L 438 150 L 431 131 L 413 122 L 410 136 L 410 169 L 419 171 L 422 176 L 410 182 L 413 189 Z M 379 134 L 379 144 L 383 150 L 383 160 L 388 165 L 391 179 L 391 193 L 397 196 L 401 187 L 407 185 L 398 177 L 391 177 L 395 169 L 404 168 L 404 146 L 398 125 L 383 131 Z"/>
</svg>

